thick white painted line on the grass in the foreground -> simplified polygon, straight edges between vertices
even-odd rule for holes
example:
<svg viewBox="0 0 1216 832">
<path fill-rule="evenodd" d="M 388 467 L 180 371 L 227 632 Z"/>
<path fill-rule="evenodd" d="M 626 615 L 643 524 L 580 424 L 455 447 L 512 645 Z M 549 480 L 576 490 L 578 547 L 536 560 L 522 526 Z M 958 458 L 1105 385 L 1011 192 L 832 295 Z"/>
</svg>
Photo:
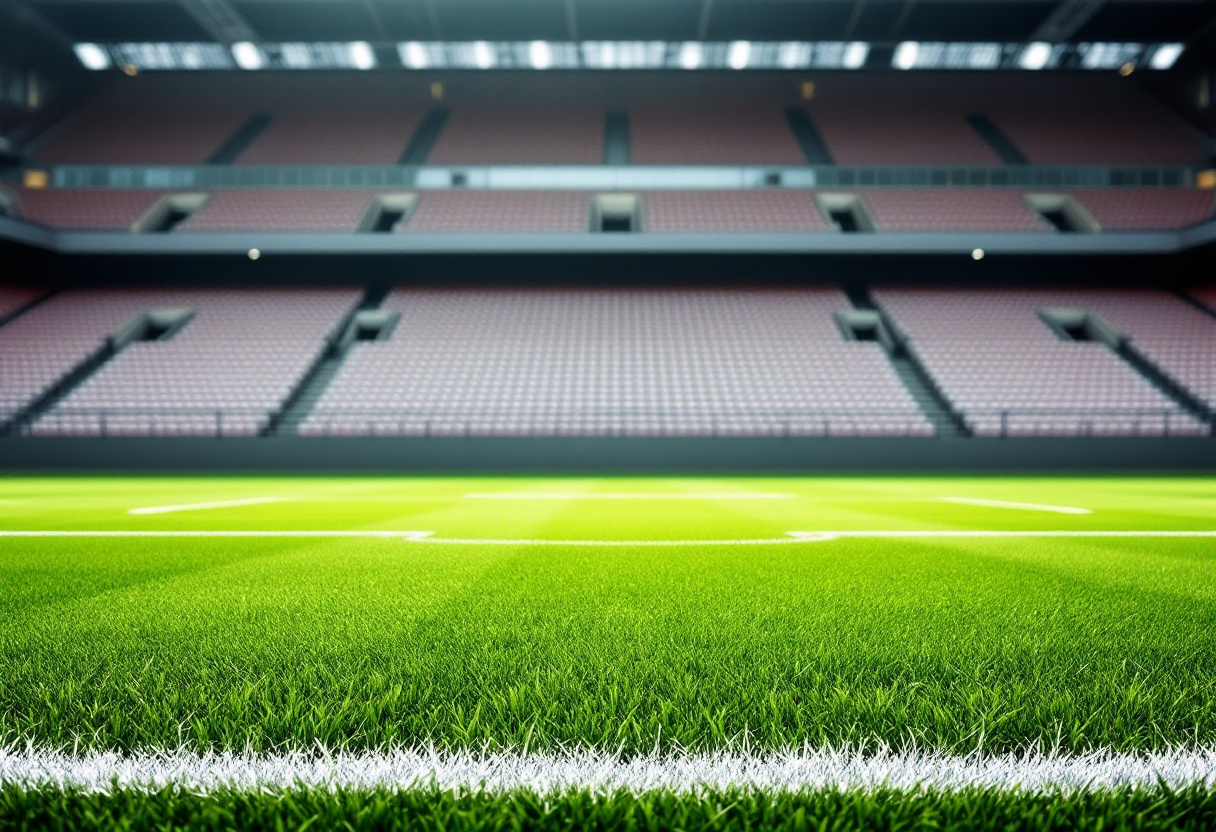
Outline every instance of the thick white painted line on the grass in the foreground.
<svg viewBox="0 0 1216 832">
<path fill-rule="evenodd" d="M 609 752 L 64 752 L 0 749 L 0 783 L 26 787 L 191 792 L 265 788 L 411 789 L 541 794 L 706 789 L 992 788 L 1010 792 L 1099 792 L 1119 787 L 1216 786 L 1216 749 L 1082 754 L 1026 751 L 967 755 L 880 749 L 799 749 L 771 754 L 709 752 L 623 759 Z"/>
</svg>

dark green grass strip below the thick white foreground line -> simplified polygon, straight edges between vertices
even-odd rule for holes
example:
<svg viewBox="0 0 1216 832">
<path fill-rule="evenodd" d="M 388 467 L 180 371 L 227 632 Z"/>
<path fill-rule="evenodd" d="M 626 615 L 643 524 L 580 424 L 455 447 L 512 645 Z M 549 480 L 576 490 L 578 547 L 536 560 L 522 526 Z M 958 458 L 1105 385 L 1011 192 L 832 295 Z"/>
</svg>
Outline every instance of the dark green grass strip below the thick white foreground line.
<svg viewBox="0 0 1216 832">
<path fill-rule="evenodd" d="M 0 827 L 128 830 L 331 830 L 500 832 L 535 830 L 925 830 L 933 832 L 1207 832 L 1216 791 L 1193 787 L 1017 793 L 883 788 L 698 794 L 536 794 L 440 789 L 188 789 L 81 792 L 0 786 Z"/>
</svg>

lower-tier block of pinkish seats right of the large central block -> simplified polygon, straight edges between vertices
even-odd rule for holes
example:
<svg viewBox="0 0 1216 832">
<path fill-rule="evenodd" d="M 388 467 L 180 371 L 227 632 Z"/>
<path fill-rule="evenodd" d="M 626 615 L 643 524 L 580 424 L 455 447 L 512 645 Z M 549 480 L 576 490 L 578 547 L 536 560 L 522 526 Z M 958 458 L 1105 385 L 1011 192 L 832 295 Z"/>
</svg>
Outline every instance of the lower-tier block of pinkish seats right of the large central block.
<svg viewBox="0 0 1216 832">
<path fill-rule="evenodd" d="M 1038 316 L 1058 292 L 885 288 L 879 305 L 968 426 L 997 435 L 1207 435 L 1107 344 Z"/>
</svg>

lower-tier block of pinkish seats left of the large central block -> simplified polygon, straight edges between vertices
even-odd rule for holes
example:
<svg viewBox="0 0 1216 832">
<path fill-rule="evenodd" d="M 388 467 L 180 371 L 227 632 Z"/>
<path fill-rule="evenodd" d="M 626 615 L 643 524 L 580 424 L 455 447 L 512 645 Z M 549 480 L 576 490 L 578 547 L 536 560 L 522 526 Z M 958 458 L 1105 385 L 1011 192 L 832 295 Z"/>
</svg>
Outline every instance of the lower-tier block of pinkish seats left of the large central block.
<svg viewBox="0 0 1216 832">
<path fill-rule="evenodd" d="M 54 328 L 27 332 L 33 354 L 55 352 L 58 336 L 73 330 L 74 343 L 95 349 L 151 309 L 188 309 L 193 317 L 168 341 L 124 347 L 39 418 L 33 434 L 255 435 L 359 297 L 354 289 L 66 293 L 47 304 L 56 307 L 46 322 Z M 60 375 L 81 352 L 64 352 Z"/>
</svg>

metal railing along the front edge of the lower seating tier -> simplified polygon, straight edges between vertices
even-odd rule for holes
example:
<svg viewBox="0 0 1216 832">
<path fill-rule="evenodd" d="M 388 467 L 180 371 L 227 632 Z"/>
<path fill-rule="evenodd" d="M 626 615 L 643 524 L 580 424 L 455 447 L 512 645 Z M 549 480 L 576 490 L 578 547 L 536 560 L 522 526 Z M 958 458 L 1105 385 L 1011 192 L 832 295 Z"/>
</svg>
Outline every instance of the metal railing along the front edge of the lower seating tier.
<svg viewBox="0 0 1216 832">
<path fill-rule="evenodd" d="M 1212 437 L 1216 425 L 1154 407 L 961 409 L 978 437 Z M 0 427 L 17 412 L 0 411 Z M 56 407 L 19 437 L 252 437 L 274 414 L 241 407 Z M 886 409 L 351 409 L 302 425 L 308 437 L 931 437 L 924 416 Z"/>
</svg>

